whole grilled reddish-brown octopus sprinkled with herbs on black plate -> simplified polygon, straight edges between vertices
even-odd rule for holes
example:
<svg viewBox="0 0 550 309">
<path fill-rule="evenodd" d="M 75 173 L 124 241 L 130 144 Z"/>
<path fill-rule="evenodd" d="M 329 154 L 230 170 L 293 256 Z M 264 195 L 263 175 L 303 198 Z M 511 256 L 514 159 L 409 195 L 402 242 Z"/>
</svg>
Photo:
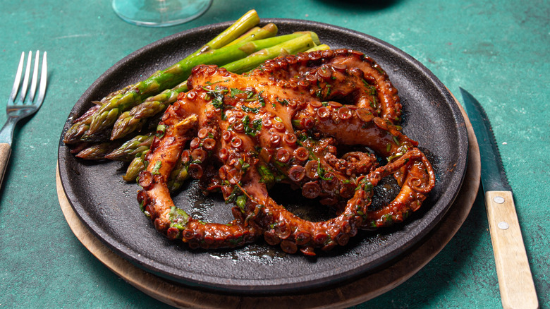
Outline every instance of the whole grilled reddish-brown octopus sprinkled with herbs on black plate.
<svg viewBox="0 0 550 309">
<path fill-rule="evenodd" d="M 432 165 L 398 126 L 397 90 L 360 52 L 282 56 L 243 75 L 202 65 L 188 85 L 162 117 L 138 201 L 158 231 L 190 248 L 263 236 L 286 253 L 315 255 L 345 246 L 358 229 L 402 222 L 434 187 Z M 176 207 L 166 182 L 177 164 L 202 190 L 232 202 L 235 219 L 201 222 Z M 400 192 L 372 209 L 374 186 L 392 174 Z M 301 219 L 269 196 L 274 183 L 334 207 L 336 217 Z"/>
</svg>

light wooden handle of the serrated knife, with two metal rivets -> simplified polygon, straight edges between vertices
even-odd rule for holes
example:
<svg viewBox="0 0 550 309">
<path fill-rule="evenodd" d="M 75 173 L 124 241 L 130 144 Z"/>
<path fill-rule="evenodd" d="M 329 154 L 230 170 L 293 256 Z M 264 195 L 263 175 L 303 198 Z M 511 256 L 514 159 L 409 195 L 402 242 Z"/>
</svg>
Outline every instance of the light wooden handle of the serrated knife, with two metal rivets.
<svg viewBox="0 0 550 309">
<path fill-rule="evenodd" d="M 487 191 L 485 205 L 503 308 L 539 308 L 510 191 Z"/>
</svg>

